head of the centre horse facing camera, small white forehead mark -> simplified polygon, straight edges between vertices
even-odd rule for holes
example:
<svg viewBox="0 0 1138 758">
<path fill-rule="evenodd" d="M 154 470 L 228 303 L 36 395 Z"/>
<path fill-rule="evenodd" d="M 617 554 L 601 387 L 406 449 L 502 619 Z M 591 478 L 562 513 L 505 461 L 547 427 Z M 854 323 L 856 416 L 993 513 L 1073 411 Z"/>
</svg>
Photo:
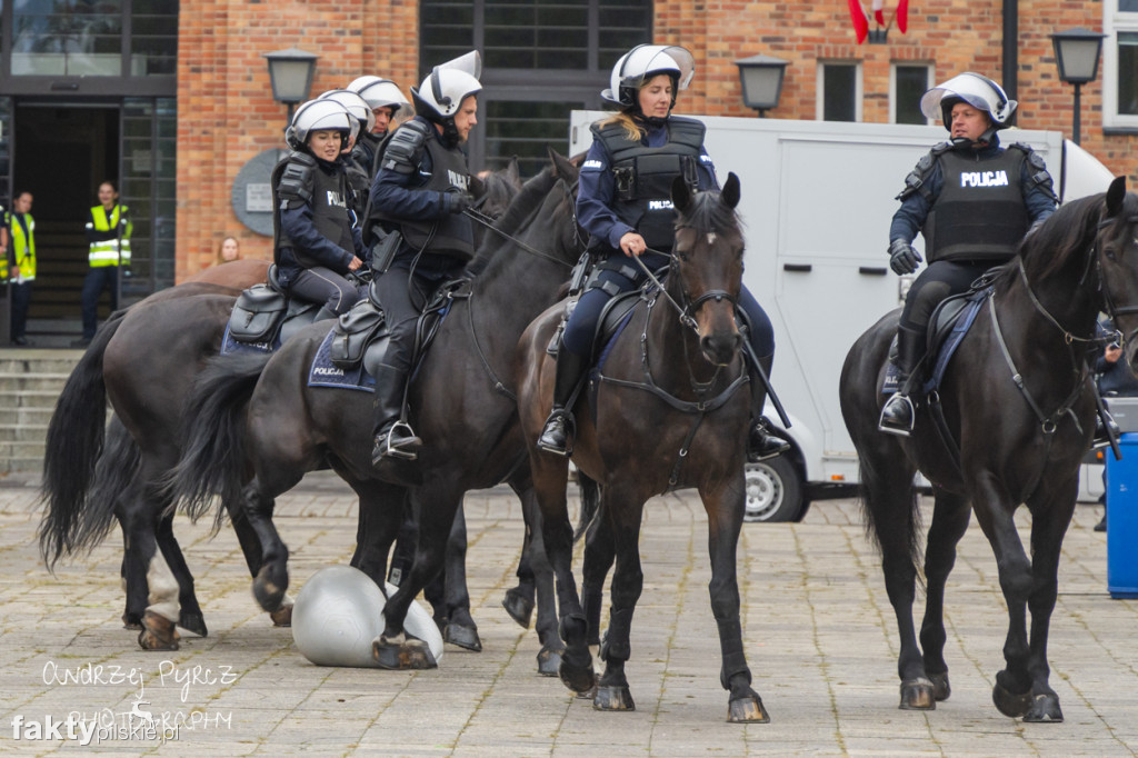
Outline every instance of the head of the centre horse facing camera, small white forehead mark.
<svg viewBox="0 0 1138 758">
<path fill-rule="evenodd" d="M 743 286 L 743 233 L 735 215 L 739 178 L 728 174 L 721 192 L 693 195 L 677 176 L 671 201 L 677 219 L 669 278 L 678 279 L 684 313 L 695 320 L 704 357 L 726 365 L 743 344 L 735 323 Z"/>
</svg>

